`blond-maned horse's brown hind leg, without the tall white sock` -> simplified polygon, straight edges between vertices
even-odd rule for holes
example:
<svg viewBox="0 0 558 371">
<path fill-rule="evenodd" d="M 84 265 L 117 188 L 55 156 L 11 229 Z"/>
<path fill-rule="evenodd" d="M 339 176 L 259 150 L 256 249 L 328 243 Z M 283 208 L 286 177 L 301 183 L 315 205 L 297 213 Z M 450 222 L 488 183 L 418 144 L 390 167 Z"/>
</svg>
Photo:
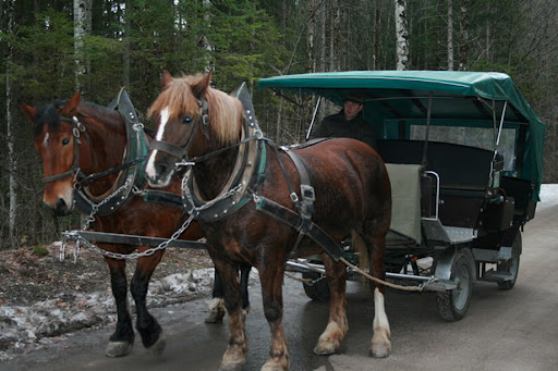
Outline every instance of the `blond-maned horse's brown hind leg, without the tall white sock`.
<svg viewBox="0 0 558 371">
<path fill-rule="evenodd" d="M 335 262 L 329 256 L 323 253 L 322 260 L 326 268 L 326 280 L 329 286 L 329 320 L 327 327 L 318 338 L 314 353 L 318 356 L 335 354 L 341 346 L 349 321 L 345 312 L 347 270 L 343 263 Z"/>
</svg>

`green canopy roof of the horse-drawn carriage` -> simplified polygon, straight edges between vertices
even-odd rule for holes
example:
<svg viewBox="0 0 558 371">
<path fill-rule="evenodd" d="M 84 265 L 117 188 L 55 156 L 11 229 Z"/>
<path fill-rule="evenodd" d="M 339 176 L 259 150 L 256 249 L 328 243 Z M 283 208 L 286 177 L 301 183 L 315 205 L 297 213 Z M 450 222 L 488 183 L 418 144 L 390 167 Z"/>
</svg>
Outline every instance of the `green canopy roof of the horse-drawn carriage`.
<svg viewBox="0 0 558 371">
<path fill-rule="evenodd" d="M 347 71 L 262 78 L 258 86 L 282 94 L 317 95 L 338 104 L 348 95 L 360 95 L 366 101 L 366 119 L 379 129 L 401 121 L 424 121 L 429 98 L 432 119 L 453 122 L 454 126 L 492 127 L 495 118 L 499 123 L 506 104 L 505 127 L 527 128 L 521 178 L 532 181 L 537 190 L 542 183 L 545 125 L 507 74 Z M 535 194 L 537 197 L 538 191 Z"/>
</svg>

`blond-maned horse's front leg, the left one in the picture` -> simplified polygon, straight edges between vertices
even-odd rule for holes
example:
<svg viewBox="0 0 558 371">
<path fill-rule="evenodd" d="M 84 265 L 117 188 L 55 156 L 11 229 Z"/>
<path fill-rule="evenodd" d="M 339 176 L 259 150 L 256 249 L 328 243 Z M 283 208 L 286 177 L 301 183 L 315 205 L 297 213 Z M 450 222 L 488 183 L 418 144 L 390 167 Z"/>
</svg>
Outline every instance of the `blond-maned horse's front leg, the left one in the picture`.
<svg viewBox="0 0 558 371">
<path fill-rule="evenodd" d="M 211 257 L 213 258 L 213 257 Z M 240 371 L 246 362 L 247 337 L 241 310 L 241 292 L 238 265 L 215 259 L 225 288 L 225 307 L 229 314 L 228 347 L 222 356 L 220 371 Z"/>
</svg>

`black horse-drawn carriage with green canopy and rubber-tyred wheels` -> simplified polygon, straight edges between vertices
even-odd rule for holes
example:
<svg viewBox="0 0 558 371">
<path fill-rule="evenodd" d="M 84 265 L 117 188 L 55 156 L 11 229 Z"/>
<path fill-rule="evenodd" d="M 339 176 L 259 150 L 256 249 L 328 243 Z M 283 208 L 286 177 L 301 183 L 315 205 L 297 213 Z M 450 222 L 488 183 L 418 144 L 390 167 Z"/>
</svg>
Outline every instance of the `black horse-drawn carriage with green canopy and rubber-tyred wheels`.
<svg viewBox="0 0 558 371">
<path fill-rule="evenodd" d="M 465 314 L 477 280 L 513 287 L 521 228 L 538 201 L 545 127 L 508 75 L 314 73 L 263 78 L 259 88 L 340 106 L 348 95 L 365 100 L 391 178 L 389 279 L 436 292 L 447 320 Z"/>
</svg>

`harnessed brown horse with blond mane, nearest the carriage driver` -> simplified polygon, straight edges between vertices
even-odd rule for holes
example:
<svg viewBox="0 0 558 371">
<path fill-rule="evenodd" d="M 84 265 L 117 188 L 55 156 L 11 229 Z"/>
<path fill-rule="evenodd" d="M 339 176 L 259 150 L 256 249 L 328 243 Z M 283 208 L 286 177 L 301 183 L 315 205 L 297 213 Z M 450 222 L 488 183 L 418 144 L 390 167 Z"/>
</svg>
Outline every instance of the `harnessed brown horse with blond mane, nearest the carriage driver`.
<svg viewBox="0 0 558 371">
<path fill-rule="evenodd" d="M 229 345 L 220 368 L 238 370 L 245 362 L 247 341 L 235 279 L 241 263 L 258 270 L 264 312 L 271 331 L 271 349 L 263 370 L 289 368 L 282 325 L 283 270 L 289 257 L 319 253 L 324 260 L 330 312 L 314 351 L 333 354 L 348 331 L 347 269 L 335 253 L 325 252 L 324 245 L 314 243 L 312 231 L 319 226 L 338 244 L 352 235 L 355 248 L 360 248 L 361 267 L 372 267 L 372 274 L 383 279 L 391 217 L 391 188 L 384 162 L 361 141 L 324 140 L 290 149 L 296 162 L 303 164 L 303 176 L 291 154 L 246 125 L 238 99 L 209 86 L 210 76 L 172 78 L 163 73 L 162 91 L 149 109 L 157 125 L 157 141 L 151 143 L 146 176 L 151 186 L 165 187 L 179 157 L 190 165 L 185 175 L 189 186 L 183 189 L 187 211 L 196 215 L 206 234 L 207 249 L 226 287 Z M 301 207 L 301 199 L 312 198 L 307 187 L 300 191 L 303 178 L 314 187 L 315 201 Z M 281 220 L 272 212 L 263 212 L 266 206 L 274 206 L 282 214 Z M 300 217 L 307 217 L 312 207 L 315 224 L 307 230 L 298 227 L 307 232 L 301 234 L 292 225 L 304 223 Z M 375 299 L 371 355 L 387 357 L 391 344 L 384 286 L 371 285 Z"/>
</svg>

